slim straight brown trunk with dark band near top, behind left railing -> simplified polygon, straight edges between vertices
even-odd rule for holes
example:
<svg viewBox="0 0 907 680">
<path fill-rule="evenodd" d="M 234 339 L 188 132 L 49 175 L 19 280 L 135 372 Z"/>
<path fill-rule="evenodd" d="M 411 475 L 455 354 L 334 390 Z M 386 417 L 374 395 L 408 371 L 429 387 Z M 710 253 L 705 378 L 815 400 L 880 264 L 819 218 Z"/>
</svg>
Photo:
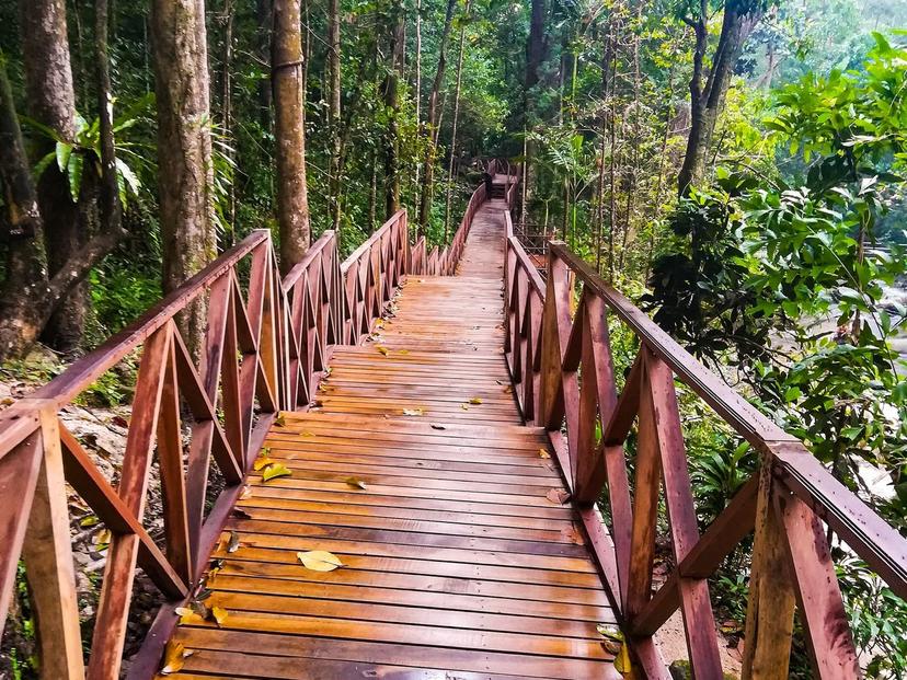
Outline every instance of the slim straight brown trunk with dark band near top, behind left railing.
<svg viewBox="0 0 907 680">
<path fill-rule="evenodd" d="M 309 250 L 309 197 L 306 189 L 306 94 L 302 84 L 301 7 L 275 0 L 271 51 L 277 138 L 277 222 L 280 269 L 286 274 Z"/>
</svg>

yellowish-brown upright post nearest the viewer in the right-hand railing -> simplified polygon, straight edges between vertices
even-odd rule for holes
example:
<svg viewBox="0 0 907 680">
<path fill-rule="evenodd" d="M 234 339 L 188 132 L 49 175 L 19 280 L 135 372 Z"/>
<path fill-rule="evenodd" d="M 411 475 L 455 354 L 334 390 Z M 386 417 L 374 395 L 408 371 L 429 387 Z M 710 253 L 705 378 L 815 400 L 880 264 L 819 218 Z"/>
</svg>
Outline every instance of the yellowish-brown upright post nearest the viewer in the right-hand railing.
<svg viewBox="0 0 907 680">
<path fill-rule="evenodd" d="M 772 503 L 774 483 L 771 459 L 765 456 L 756 500 L 743 680 L 785 680 L 791 657 L 796 600 L 788 573 L 784 528 Z"/>
</svg>

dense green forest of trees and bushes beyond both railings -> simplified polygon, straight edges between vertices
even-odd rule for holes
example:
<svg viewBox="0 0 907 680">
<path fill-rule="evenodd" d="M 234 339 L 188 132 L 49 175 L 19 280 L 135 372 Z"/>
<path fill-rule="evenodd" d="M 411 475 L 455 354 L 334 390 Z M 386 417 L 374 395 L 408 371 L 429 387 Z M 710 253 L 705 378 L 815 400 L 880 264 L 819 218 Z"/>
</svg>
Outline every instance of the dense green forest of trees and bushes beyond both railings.
<svg viewBox="0 0 907 680">
<path fill-rule="evenodd" d="M 294 31 L 299 58 L 275 61 Z M 443 245 L 508 159 L 520 238 L 565 241 L 907 535 L 907 3 L 0 0 L 0 76 L 4 385 L 60 372 L 253 230 L 285 270 L 400 208 Z M 82 405 L 128 405 L 134 377 Z M 704 529 L 759 459 L 678 397 Z M 829 538 L 866 677 L 907 677 L 907 603 Z M 734 649 L 751 548 L 710 580 Z M 0 672 L 34 677 L 14 618 Z"/>
</svg>

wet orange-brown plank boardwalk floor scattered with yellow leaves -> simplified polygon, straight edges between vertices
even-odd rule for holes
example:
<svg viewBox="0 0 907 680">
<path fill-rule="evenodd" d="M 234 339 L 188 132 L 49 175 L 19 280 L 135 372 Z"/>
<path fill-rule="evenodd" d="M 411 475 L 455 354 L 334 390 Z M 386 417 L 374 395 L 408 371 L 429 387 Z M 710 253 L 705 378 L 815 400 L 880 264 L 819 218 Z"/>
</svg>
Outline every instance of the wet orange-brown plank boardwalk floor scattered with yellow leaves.
<svg viewBox="0 0 907 680">
<path fill-rule="evenodd" d="M 227 618 L 181 624 L 193 654 L 168 677 L 617 677 L 608 598 L 512 394 L 504 209 L 485 203 L 460 274 L 411 276 L 380 337 L 336 347 L 312 408 L 274 426 L 292 474 L 250 477 L 208 583 Z M 312 550 L 344 566 L 308 569 Z"/>
</svg>

